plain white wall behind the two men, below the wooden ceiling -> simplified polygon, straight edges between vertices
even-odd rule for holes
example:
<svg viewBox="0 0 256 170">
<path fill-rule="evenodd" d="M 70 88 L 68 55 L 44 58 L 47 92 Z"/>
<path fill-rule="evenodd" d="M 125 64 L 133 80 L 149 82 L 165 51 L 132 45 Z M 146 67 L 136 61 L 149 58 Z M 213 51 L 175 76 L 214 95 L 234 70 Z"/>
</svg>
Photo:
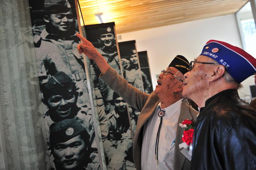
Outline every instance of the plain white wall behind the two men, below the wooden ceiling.
<svg viewBox="0 0 256 170">
<path fill-rule="evenodd" d="M 118 42 L 136 40 L 138 51 L 148 51 L 154 88 L 156 75 L 168 67 L 176 55 L 183 55 L 192 61 L 210 39 L 242 47 L 234 14 L 118 35 L 122 36 Z M 249 77 L 242 84 L 244 88 L 239 90 L 240 97 L 250 96 L 249 85 L 254 85 L 254 78 Z"/>
</svg>

